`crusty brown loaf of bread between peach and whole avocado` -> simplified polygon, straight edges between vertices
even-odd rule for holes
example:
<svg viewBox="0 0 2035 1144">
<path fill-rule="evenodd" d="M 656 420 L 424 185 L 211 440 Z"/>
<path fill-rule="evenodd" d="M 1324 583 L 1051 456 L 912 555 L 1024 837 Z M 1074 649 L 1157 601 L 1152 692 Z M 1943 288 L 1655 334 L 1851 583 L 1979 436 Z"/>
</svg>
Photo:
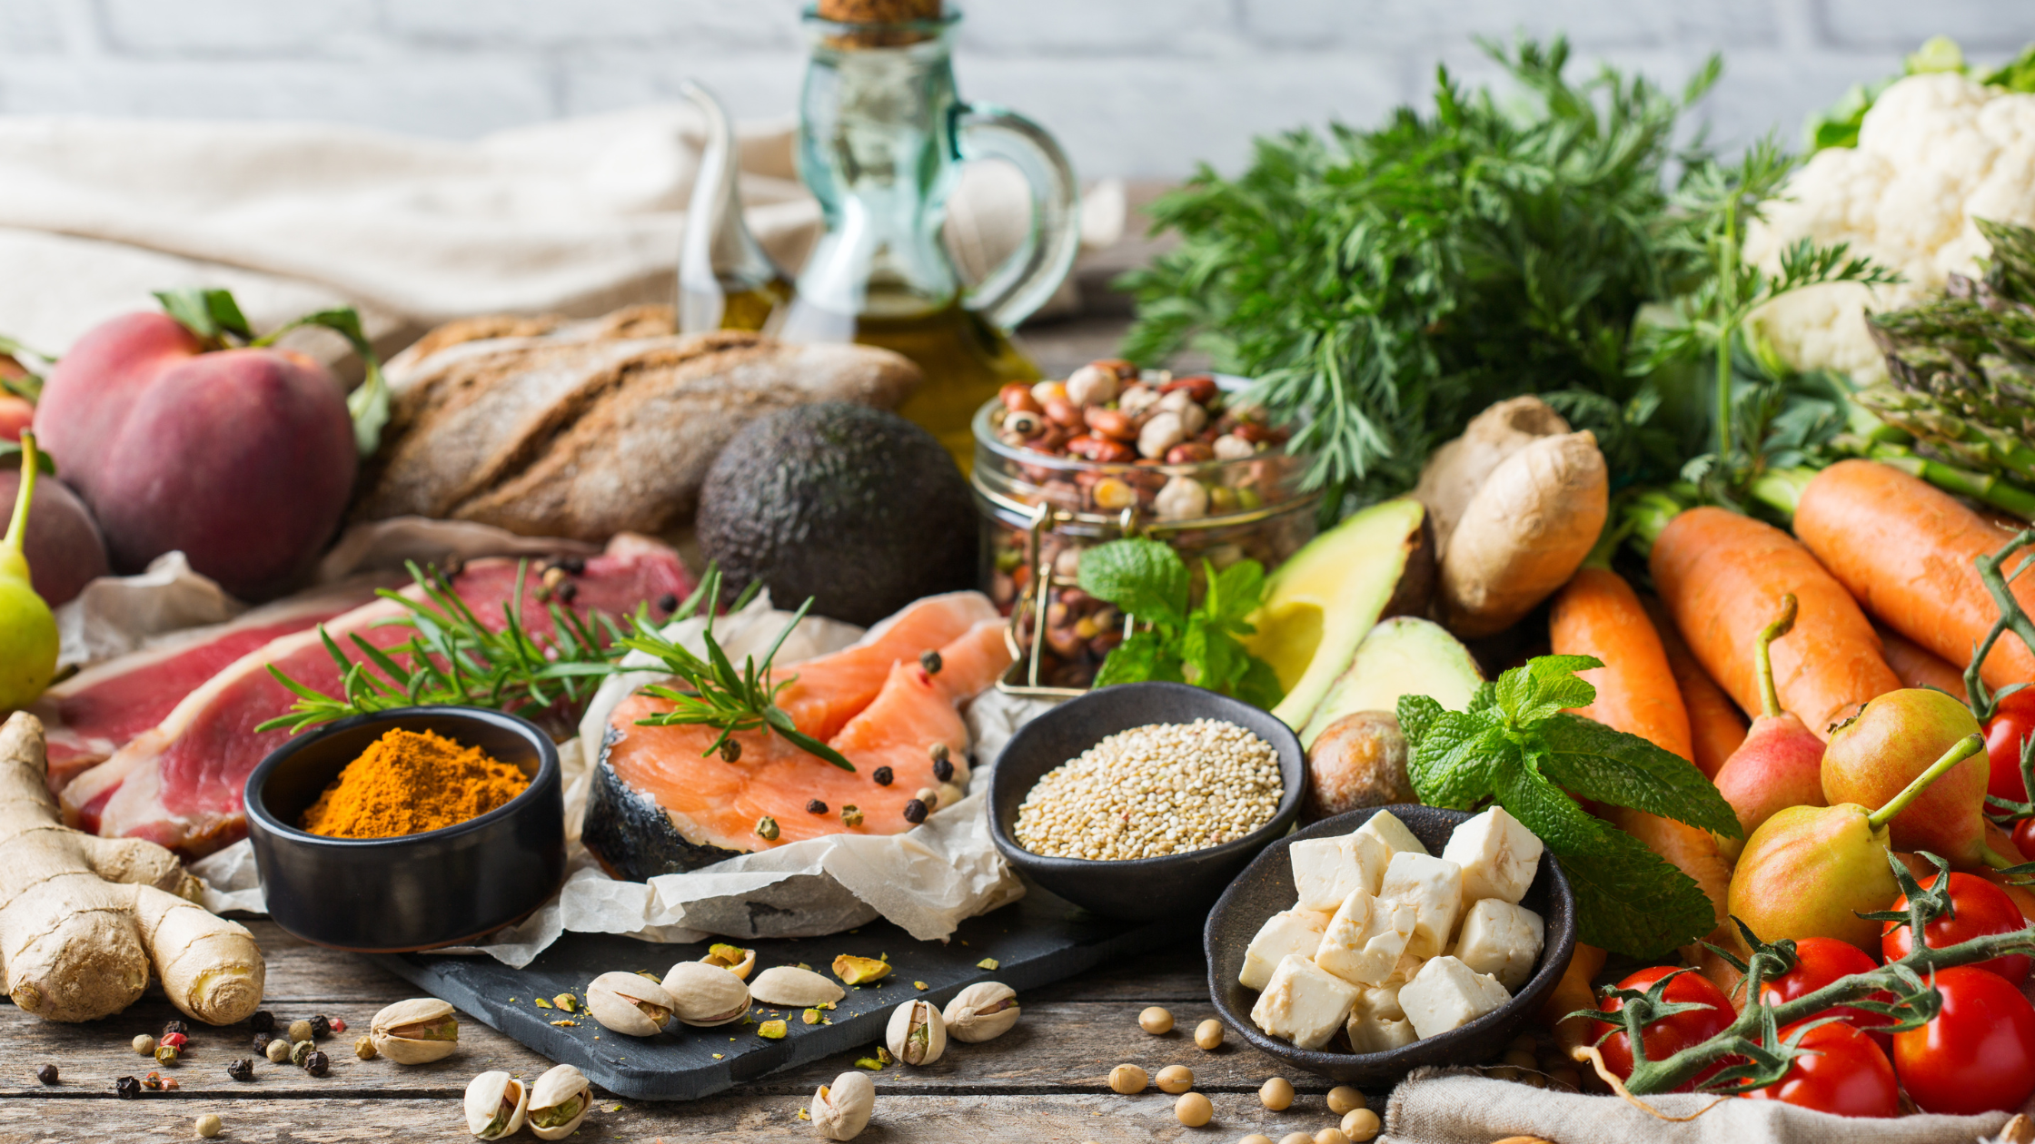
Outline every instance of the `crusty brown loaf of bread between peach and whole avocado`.
<svg viewBox="0 0 2035 1144">
<path fill-rule="evenodd" d="M 893 409 L 918 366 L 871 346 L 678 336 L 670 307 L 468 318 L 389 360 L 393 411 L 354 519 L 478 521 L 600 541 L 692 519 L 720 446 L 814 401 Z"/>
</svg>

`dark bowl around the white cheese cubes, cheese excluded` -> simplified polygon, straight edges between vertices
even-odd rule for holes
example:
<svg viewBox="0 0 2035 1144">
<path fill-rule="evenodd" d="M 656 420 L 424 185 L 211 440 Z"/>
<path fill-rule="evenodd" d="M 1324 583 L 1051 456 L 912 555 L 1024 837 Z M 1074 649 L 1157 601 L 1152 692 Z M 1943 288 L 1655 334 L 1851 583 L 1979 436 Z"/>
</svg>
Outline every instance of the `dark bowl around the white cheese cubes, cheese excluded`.
<svg viewBox="0 0 2035 1144">
<path fill-rule="evenodd" d="M 1258 861 L 1229 885 L 1223 900 L 1215 904 L 1215 912 L 1209 914 L 1209 926 L 1201 938 L 1209 955 L 1209 997 L 1229 1028 L 1241 1032 L 1243 1040 L 1252 1042 L 1252 1046 L 1280 1061 L 1359 1087 L 1386 1087 L 1422 1065 L 1479 1065 L 1498 1056 L 1506 1042 L 1518 1036 L 1520 1026 L 1526 1024 L 1532 1012 L 1540 1008 L 1540 1002 L 1547 999 L 1555 983 L 1561 981 L 1563 971 L 1569 969 L 1569 957 L 1575 953 L 1575 894 L 1569 890 L 1569 879 L 1563 877 L 1555 855 L 1543 853 L 1540 871 L 1534 875 L 1532 885 L 1526 888 L 1526 898 L 1520 900 L 1520 906 L 1540 914 L 1543 922 L 1547 922 L 1540 965 L 1534 967 L 1532 977 L 1526 979 L 1526 985 L 1504 1008 L 1484 1014 L 1463 1028 L 1416 1040 L 1390 1052 L 1309 1050 L 1260 1032 L 1252 1024 L 1252 1006 L 1258 1004 L 1258 991 L 1245 989 L 1237 981 L 1237 973 L 1243 971 L 1243 949 L 1258 936 L 1258 928 L 1266 924 L 1266 918 L 1280 910 L 1290 910 L 1300 900 L 1292 885 L 1292 859 L 1286 851 L 1298 839 L 1347 835 L 1378 810 L 1396 814 L 1429 853 L 1437 855 L 1449 845 L 1449 833 L 1455 831 L 1455 824 L 1469 818 L 1463 810 L 1441 810 L 1437 806 L 1372 806 L 1296 831 L 1292 837 L 1266 847 L 1258 855 Z"/>
</svg>

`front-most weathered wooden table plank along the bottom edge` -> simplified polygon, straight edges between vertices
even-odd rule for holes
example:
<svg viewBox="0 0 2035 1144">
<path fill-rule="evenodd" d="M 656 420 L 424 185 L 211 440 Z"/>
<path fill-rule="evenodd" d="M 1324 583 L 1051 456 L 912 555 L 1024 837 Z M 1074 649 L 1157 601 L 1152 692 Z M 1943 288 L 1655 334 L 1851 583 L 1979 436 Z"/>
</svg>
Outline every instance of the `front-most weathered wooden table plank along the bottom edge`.
<svg viewBox="0 0 2035 1144">
<path fill-rule="evenodd" d="M 771 1099 L 710 1097 L 704 1101 L 623 1103 L 600 1101 L 572 1136 L 576 1142 L 678 1144 L 684 1142 L 798 1142 L 818 1138 L 798 1120 L 810 1093 Z M 1302 1097 L 1284 1113 L 1266 1111 L 1256 1097 L 1215 1093 L 1215 1120 L 1207 1128 L 1182 1128 L 1172 1116 L 1174 1097 L 1150 1093 L 1119 1095 L 895 1095 L 877 1085 L 877 1109 L 863 1144 L 1099 1144 L 1115 1142 L 1213 1142 L 1264 1132 L 1278 1140 L 1286 1132 L 1317 1132 L 1333 1118 L 1319 1097 Z M 191 1122 L 201 1113 L 224 1120 L 228 1142 L 354 1144 L 407 1140 L 470 1140 L 460 1101 L 444 1099 L 242 1099 L 144 1097 L 37 1099 L 10 1101 L 0 1122 L 0 1144 L 106 1144 L 191 1138 Z M 519 1136 L 529 1140 L 529 1136 Z"/>
</svg>

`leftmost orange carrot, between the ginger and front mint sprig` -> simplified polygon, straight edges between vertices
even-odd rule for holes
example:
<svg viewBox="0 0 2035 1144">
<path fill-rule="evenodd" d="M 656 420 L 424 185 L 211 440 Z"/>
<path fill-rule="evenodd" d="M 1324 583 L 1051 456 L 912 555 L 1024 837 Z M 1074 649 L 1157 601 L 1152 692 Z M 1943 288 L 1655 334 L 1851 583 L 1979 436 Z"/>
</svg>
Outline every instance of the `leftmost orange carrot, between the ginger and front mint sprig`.
<svg viewBox="0 0 2035 1144">
<path fill-rule="evenodd" d="M 1557 655 L 1595 655 L 1602 668 L 1577 672 L 1597 688 L 1597 700 L 1577 710 L 1685 759 L 1695 757 L 1689 708 L 1667 666 L 1661 633 L 1632 584 L 1610 568 L 1579 568 L 1555 594 L 1547 621 Z"/>
</svg>

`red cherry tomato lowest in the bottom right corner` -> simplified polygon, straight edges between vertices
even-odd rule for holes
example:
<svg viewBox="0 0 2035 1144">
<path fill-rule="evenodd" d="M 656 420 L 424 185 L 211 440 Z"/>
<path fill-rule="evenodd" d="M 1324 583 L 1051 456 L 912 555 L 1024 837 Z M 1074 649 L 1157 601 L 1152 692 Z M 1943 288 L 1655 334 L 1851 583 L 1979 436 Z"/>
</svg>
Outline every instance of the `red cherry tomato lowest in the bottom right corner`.
<svg viewBox="0 0 2035 1144">
<path fill-rule="evenodd" d="M 1895 1034 L 1895 1073 L 1923 1111 L 2015 1111 L 2035 1093 L 2035 1006 L 1998 973 L 1939 969 L 1943 1012 Z"/>
</svg>

